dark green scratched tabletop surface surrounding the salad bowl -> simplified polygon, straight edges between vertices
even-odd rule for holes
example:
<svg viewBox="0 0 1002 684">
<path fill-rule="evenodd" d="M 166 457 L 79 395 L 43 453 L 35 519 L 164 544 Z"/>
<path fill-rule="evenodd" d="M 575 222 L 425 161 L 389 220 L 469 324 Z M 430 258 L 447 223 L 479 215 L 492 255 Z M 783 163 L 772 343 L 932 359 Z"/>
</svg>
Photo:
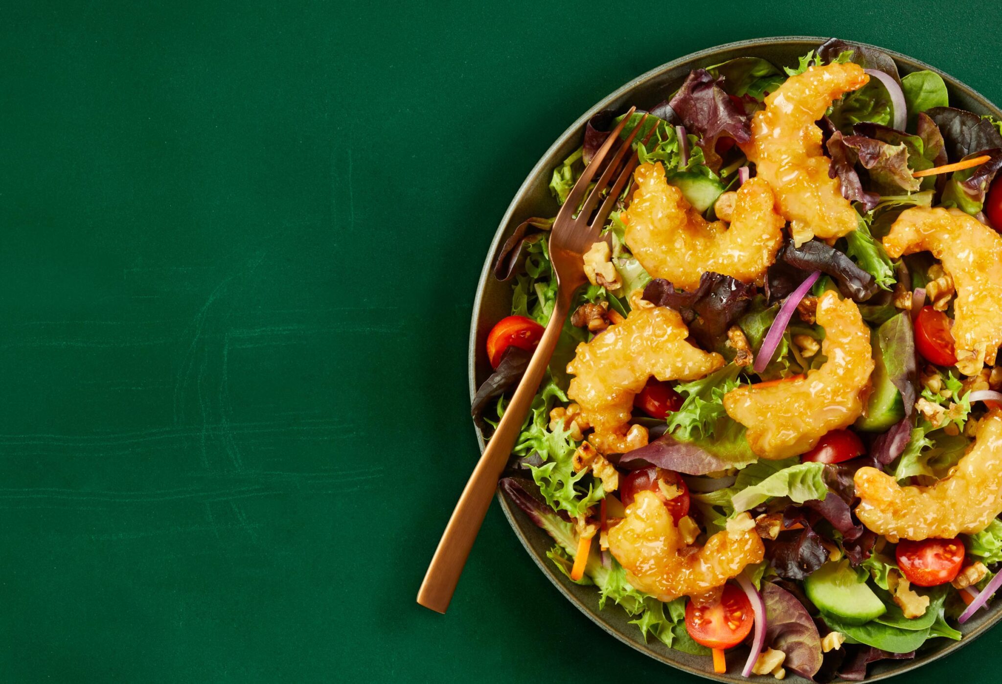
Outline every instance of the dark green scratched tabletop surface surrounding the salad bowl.
<svg viewBox="0 0 1002 684">
<path fill-rule="evenodd" d="M 617 4 L 618 5 L 618 4 Z M 550 142 L 633 76 L 838 34 L 995 101 L 991 3 L 7 3 L 0 680 L 695 681 L 488 514 L 476 278 Z M 990 679 L 1002 630 L 912 681 Z"/>
</svg>

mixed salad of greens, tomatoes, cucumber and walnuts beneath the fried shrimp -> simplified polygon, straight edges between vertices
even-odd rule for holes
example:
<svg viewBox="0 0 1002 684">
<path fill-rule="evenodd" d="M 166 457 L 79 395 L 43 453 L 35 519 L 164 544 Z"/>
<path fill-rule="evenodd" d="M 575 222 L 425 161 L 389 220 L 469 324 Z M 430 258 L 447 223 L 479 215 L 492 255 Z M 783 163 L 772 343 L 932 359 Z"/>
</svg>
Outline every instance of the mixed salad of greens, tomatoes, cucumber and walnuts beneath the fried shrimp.
<svg viewBox="0 0 1002 684">
<path fill-rule="evenodd" d="M 659 162 L 668 183 L 713 219 L 717 199 L 755 173 L 735 142 L 748 139 L 750 117 L 767 95 L 813 65 L 850 61 L 872 78 L 837 100 L 818 125 L 832 177 L 859 213 L 857 230 L 832 243 L 786 242 L 762 286 L 705 273 L 698 288 L 679 291 L 652 278 L 626 244 L 621 214 L 632 193 L 627 186 L 604 233 L 619 284 L 606 280 L 576 293 L 575 315 L 563 328 L 501 482 L 502 491 L 552 536 L 547 555 L 555 567 L 573 582 L 594 585 L 600 608 L 626 611 L 644 639 L 717 656 L 717 667 L 723 648 L 750 640 L 746 675 L 791 671 L 819 682 L 862 680 L 869 663 L 912 658 L 930 639 L 959 640 L 957 619 L 966 621 L 1002 578 L 996 575 L 1002 521 L 954 540 L 895 543 L 868 530 L 854 511 L 854 474 L 861 467 L 877 468 L 903 485 L 946 477 L 970 449 L 986 411 L 977 400 L 1002 383 L 1002 373 L 992 369 L 964 378 L 954 368 L 953 306 L 950 292 L 944 299 L 936 284 L 943 277 L 936 259 L 928 252 L 892 259 L 881 243 L 897 216 L 913 206 L 956 207 L 1002 228 L 1002 190 L 993 184 L 1002 167 L 1002 124 L 951 107 L 946 84 L 934 72 L 902 75 L 889 55 L 832 40 L 783 68 L 746 56 L 697 69 L 646 118 L 633 113 L 621 134 L 642 125 L 634 143 L 639 162 Z M 567 198 L 620 118 L 603 111 L 588 122 L 581 147 L 553 171 L 557 202 Z M 970 159 L 981 161 L 965 165 Z M 939 172 L 948 164 L 957 170 Z M 495 371 L 474 401 L 474 418 L 488 434 L 553 310 L 557 285 L 546 239 L 552 220 L 526 220 L 497 260 L 496 276 L 513 286 L 512 315 L 491 331 L 488 356 Z M 607 491 L 603 478 L 575 463 L 587 438 L 561 420 L 570 404 L 566 367 L 579 344 L 629 313 L 629 294 L 637 289 L 646 301 L 679 311 L 690 338 L 727 364 L 700 380 L 648 382 L 636 396 L 632 421 L 647 429 L 649 443 L 612 457 L 619 486 Z M 723 397 L 742 385 L 799 378 L 824 364 L 825 329 L 810 307 L 798 304 L 831 289 L 857 302 L 871 330 L 875 371 L 867 409 L 851 428 L 829 433 L 807 454 L 760 460 L 745 427 L 724 410 Z M 741 363 L 742 351 L 728 339 L 735 325 L 754 366 Z M 738 617 L 709 627 L 707 618 L 700 627 L 691 619 L 690 599 L 662 602 L 638 591 L 604 545 L 606 530 L 636 492 L 666 489 L 674 494 L 662 497 L 673 515 L 694 524 L 695 545 L 744 512 L 763 531 L 765 560 L 718 598 L 718 610 Z"/>
</svg>

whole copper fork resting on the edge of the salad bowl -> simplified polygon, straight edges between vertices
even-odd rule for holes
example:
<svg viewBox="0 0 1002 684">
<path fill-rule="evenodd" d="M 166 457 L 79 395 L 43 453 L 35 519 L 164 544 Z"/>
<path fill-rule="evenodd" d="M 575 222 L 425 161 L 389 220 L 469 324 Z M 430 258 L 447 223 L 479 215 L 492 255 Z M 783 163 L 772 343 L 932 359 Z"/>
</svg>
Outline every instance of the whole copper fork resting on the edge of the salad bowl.
<svg viewBox="0 0 1002 684">
<path fill-rule="evenodd" d="M 584 252 L 598 239 L 616 198 L 637 164 L 636 153 L 630 152 L 630 145 L 642 127 L 646 114 L 637 122 L 629 136 L 618 145 L 594 187 L 589 191 L 592 179 L 609 157 L 619 140 L 619 134 L 634 110 L 635 108 L 630 108 L 595 152 L 595 156 L 581 173 L 581 177 L 574 184 L 553 221 L 549 247 L 558 286 L 553 313 L 497 430 L 487 443 L 487 448 L 473 469 L 463 494 L 459 497 L 459 502 L 452 512 L 449 524 L 442 534 L 435 556 L 418 591 L 418 603 L 439 613 L 445 613 L 449 607 L 449 601 L 456 590 L 456 583 L 459 582 L 459 576 L 473 547 L 473 540 L 476 539 L 484 522 L 484 516 L 487 515 L 498 478 L 508 463 L 511 450 L 522 429 L 522 423 L 529 413 L 529 406 L 539 390 L 543 375 L 553 356 L 560 330 L 563 329 L 564 321 L 570 313 L 574 292 L 587 281 L 582 259 Z M 629 156 L 624 163 L 623 158 L 627 153 Z M 596 211 L 595 206 L 603 195 L 604 200 Z M 579 206 L 580 210 L 577 210 Z"/>
</svg>

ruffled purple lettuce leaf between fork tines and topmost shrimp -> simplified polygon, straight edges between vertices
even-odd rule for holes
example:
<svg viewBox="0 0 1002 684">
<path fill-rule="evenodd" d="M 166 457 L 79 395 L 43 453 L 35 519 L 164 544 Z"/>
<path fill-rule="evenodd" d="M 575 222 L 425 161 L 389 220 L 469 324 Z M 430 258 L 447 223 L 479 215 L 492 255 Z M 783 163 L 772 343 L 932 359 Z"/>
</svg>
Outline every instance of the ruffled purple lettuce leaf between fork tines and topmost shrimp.
<svg viewBox="0 0 1002 684">
<path fill-rule="evenodd" d="M 741 143 L 752 139 L 752 117 L 731 101 L 721 87 L 722 81 L 705 69 L 694 69 L 668 102 L 688 132 L 699 135 L 703 158 L 714 171 L 720 167 L 715 150 L 719 137 L 731 137 Z"/>
</svg>

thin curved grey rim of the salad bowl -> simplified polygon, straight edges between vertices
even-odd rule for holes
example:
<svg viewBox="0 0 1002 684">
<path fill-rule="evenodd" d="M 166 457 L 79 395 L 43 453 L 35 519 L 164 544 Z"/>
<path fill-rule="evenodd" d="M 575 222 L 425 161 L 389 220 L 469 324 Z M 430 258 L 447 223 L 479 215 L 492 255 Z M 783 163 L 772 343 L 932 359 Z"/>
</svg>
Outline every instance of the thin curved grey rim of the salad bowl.
<svg viewBox="0 0 1002 684">
<path fill-rule="evenodd" d="M 473 400 L 477 392 L 477 378 L 476 378 L 477 330 L 480 321 L 480 310 L 482 306 L 483 295 L 487 285 L 487 281 L 489 278 L 493 277 L 493 269 L 492 269 L 493 257 L 494 254 L 497 252 L 498 247 L 502 243 L 502 240 L 505 237 L 505 233 L 507 232 L 508 226 L 511 224 L 512 217 L 514 215 L 514 212 L 518 208 L 518 204 L 520 203 L 521 197 L 531 189 L 539 173 L 548 170 L 549 167 L 552 165 L 550 157 L 553 156 L 554 153 L 557 152 L 561 147 L 563 147 L 572 137 L 581 135 L 584 125 L 596 113 L 598 113 L 602 109 L 607 108 L 610 104 L 614 103 L 619 98 L 634 91 L 641 85 L 645 84 L 647 81 L 656 78 L 657 76 L 667 71 L 670 71 L 671 69 L 677 68 L 678 66 L 681 66 L 686 63 L 696 62 L 700 59 L 711 57 L 714 54 L 718 54 L 720 52 L 729 51 L 733 49 L 747 49 L 749 51 L 749 56 L 755 56 L 755 53 L 752 52 L 753 50 L 767 47 L 770 45 L 777 45 L 784 43 L 803 44 L 807 49 L 811 49 L 812 46 L 815 47 L 819 46 L 826 40 L 829 40 L 829 38 L 823 38 L 818 36 L 771 36 L 764 38 L 752 38 L 746 40 L 739 40 L 730 43 L 722 43 L 702 50 L 698 50 L 696 52 L 688 53 L 686 55 L 673 59 L 669 62 L 665 62 L 659 66 L 656 66 L 640 74 L 639 76 L 636 76 L 635 78 L 627 81 L 619 88 L 616 88 L 614 91 L 612 91 L 611 93 L 600 99 L 587 111 L 581 114 L 581 116 L 575 119 L 574 122 L 571 123 L 564 130 L 564 132 L 557 137 L 557 139 L 546 149 L 546 151 L 542 154 L 539 160 L 533 165 L 532 169 L 529 171 L 525 180 L 522 181 L 521 185 L 519 185 L 518 189 L 515 191 L 515 194 L 512 196 L 512 200 L 508 204 L 508 208 L 505 210 L 505 213 L 501 218 L 498 228 L 494 233 L 494 237 L 491 240 L 490 247 L 488 248 L 487 251 L 487 256 L 484 260 L 483 268 L 481 269 L 480 277 L 477 281 L 477 291 L 473 301 L 473 312 L 470 320 L 470 344 L 469 344 L 469 354 L 467 359 L 467 372 L 470 384 L 469 390 L 470 390 L 471 401 Z M 984 95 L 982 95 L 974 88 L 968 86 L 963 81 L 954 78 L 950 74 L 945 73 L 944 71 L 930 64 L 927 64 L 921 60 L 915 59 L 914 57 L 910 57 L 903 53 L 896 52 L 894 50 L 888 50 L 887 48 L 881 47 L 879 45 L 873 45 L 870 43 L 864 43 L 856 40 L 849 40 L 847 42 L 861 45 L 863 47 L 872 47 L 881 50 L 882 52 L 891 55 L 894 58 L 895 62 L 898 63 L 899 65 L 908 66 L 912 70 L 927 69 L 929 71 L 932 71 L 940 75 L 948 86 L 950 86 L 955 90 L 962 91 L 967 97 L 977 101 L 977 103 L 983 108 L 983 110 L 992 112 L 997 117 L 1002 118 L 1002 109 L 1000 109 L 990 100 L 988 100 Z M 484 441 L 483 433 L 476 426 L 474 426 L 474 431 L 476 432 L 477 444 L 482 454 L 484 449 L 486 448 L 486 443 Z M 574 594 L 570 592 L 569 580 L 567 580 L 565 577 L 557 573 L 551 567 L 550 564 L 547 564 L 545 562 L 545 558 L 541 557 L 539 554 L 535 552 L 529 540 L 522 533 L 521 529 L 519 528 L 518 524 L 515 521 L 515 516 L 518 514 L 516 514 L 515 508 L 512 506 L 511 502 L 509 502 L 501 494 L 500 491 L 498 491 L 496 498 L 501 506 L 501 510 L 504 513 L 505 518 L 508 520 L 508 524 L 511 526 L 512 530 L 515 533 L 515 536 L 518 538 L 519 542 L 521 542 L 523 548 L 525 548 L 529 557 L 535 562 L 536 566 L 542 571 L 543 575 L 545 575 L 550 580 L 550 582 L 557 588 L 557 590 L 564 596 L 565 599 L 567 599 L 574 606 L 576 606 L 578 610 L 584 613 L 592 622 L 598 625 L 603 631 L 612 635 L 617 640 L 626 644 L 630 648 L 633 648 L 634 650 L 639 651 L 644 655 L 653 658 L 661 663 L 682 670 L 689 674 L 693 674 L 702 677 L 704 679 L 709 679 L 718 682 L 747 681 L 743 677 L 737 680 L 735 679 L 734 676 L 727 676 L 727 675 L 721 676 L 717 675 L 712 671 L 700 670 L 690 667 L 685 663 L 679 662 L 670 657 L 666 657 L 649 648 L 644 648 L 642 644 L 639 644 L 635 641 L 628 639 L 619 630 L 613 628 L 610 624 L 608 624 L 602 618 L 602 616 L 598 611 L 594 611 L 589 606 L 586 606 L 578 597 L 574 596 Z M 982 620 L 978 625 L 974 626 L 974 628 L 970 632 L 964 633 L 964 636 L 960 641 L 950 641 L 943 647 L 937 649 L 935 652 L 920 655 L 919 657 L 913 660 L 894 661 L 900 664 L 897 666 L 892 666 L 884 672 L 875 673 L 872 677 L 868 677 L 866 681 L 876 682 L 882 679 L 886 679 L 888 677 L 893 677 L 895 675 L 913 671 L 930 662 L 933 662 L 947 655 L 950 655 L 951 653 L 954 653 L 960 648 L 963 648 L 964 646 L 968 645 L 976 638 L 987 632 L 989 629 L 995 626 L 995 624 L 997 624 L 1000 619 L 1002 619 L 1002 602 L 992 606 L 989 609 L 989 611 L 990 613 L 988 619 Z M 671 653 L 672 652 L 671 649 L 668 649 L 668 652 Z M 795 681 L 796 681 L 796 675 L 795 675 Z M 841 680 L 836 680 L 836 681 L 841 681 Z"/>
</svg>

